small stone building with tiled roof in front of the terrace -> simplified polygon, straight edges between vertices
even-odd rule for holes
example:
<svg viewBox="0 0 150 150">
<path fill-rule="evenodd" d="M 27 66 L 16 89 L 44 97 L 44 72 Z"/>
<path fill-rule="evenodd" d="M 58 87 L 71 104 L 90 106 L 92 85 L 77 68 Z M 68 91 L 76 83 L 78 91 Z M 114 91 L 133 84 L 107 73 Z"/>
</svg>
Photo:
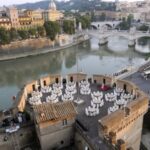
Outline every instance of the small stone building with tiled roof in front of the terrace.
<svg viewBox="0 0 150 150">
<path fill-rule="evenodd" d="M 77 112 L 72 102 L 49 103 L 33 109 L 42 150 L 60 149 L 73 143 Z"/>
</svg>

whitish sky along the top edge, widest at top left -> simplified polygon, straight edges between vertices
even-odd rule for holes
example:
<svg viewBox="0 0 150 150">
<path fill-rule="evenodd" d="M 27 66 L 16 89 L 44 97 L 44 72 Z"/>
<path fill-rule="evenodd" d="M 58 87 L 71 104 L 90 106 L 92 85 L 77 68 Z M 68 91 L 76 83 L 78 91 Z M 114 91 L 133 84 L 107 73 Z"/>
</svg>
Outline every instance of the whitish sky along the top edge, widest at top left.
<svg viewBox="0 0 150 150">
<path fill-rule="evenodd" d="M 2 0 L 2 2 L 0 3 L 0 6 L 8 6 L 8 5 L 16 5 L 16 4 L 23 4 L 23 3 L 34 3 L 34 2 L 39 2 L 39 1 L 44 1 L 44 0 Z M 61 0 L 57 0 L 57 1 L 61 1 Z M 115 0 L 103 0 L 103 1 L 115 1 Z M 139 0 L 120 0 L 120 1 L 139 1 Z M 143 0 L 141 0 L 143 1 Z"/>
</svg>

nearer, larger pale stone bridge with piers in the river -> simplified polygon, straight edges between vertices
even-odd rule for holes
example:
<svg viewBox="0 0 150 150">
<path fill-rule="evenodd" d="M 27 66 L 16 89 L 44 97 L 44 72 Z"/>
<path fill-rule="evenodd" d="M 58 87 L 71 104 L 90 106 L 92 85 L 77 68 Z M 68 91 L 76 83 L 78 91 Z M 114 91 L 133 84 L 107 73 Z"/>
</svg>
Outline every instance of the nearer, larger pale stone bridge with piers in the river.
<svg viewBox="0 0 150 150">
<path fill-rule="evenodd" d="M 137 39 L 142 37 L 150 37 L 149 32 L 142 31 L 119 31 L 119 30 L 110 30 L 110 31 L 102 31 L 102 30 L 88 30 L 86 32 L 91 37 L 95 37 L 99 39 L 99 44 L 107 44 L 108 38 L 111 36 L 121 36 L 128 39 L 128 45 L 134 46 L 136 44 Z"/>
</svg>

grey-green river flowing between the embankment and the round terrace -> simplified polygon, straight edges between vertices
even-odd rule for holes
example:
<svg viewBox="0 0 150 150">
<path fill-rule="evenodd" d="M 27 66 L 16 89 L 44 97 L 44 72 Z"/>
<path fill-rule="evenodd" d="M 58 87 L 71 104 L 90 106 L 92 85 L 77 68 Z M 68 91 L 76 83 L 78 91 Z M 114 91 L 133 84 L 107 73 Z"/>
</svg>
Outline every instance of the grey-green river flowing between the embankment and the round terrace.
<svg viewBox="0 0 150 150">
<path fill-rule="evenodd" d="M 147 53 L 150 53 L 150 39 L 141 39 L 135 48 L 128 48 L 127 39 L 121 37 L 110 38 L 108 45 L 101 47 L 93 38 L 65 50 L 0 62 L 0 110 L 9 108 L 12 96 L 34 79 L 77 72 L 77 66 L 78 71 L 88 75 L 112 74 L 126 66 L 144 63 Z"/>
</svg>

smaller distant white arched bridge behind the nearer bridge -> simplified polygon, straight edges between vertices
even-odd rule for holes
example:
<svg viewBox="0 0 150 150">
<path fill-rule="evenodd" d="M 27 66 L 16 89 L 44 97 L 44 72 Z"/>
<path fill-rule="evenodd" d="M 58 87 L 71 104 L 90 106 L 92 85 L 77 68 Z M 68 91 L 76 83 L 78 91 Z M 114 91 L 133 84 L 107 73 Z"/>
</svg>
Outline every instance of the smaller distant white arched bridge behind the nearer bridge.
<svg viewBox="0 0 150 150">
<path fill-rule="evenodd" d="M 94 29 L 101 29 L 104 26 L 111 28 L 111 29 L 115 29 L 121 21 L 103 21 L 103 22 L 92 22 L 91 23 L 91 27 Z"/>
</svg>

